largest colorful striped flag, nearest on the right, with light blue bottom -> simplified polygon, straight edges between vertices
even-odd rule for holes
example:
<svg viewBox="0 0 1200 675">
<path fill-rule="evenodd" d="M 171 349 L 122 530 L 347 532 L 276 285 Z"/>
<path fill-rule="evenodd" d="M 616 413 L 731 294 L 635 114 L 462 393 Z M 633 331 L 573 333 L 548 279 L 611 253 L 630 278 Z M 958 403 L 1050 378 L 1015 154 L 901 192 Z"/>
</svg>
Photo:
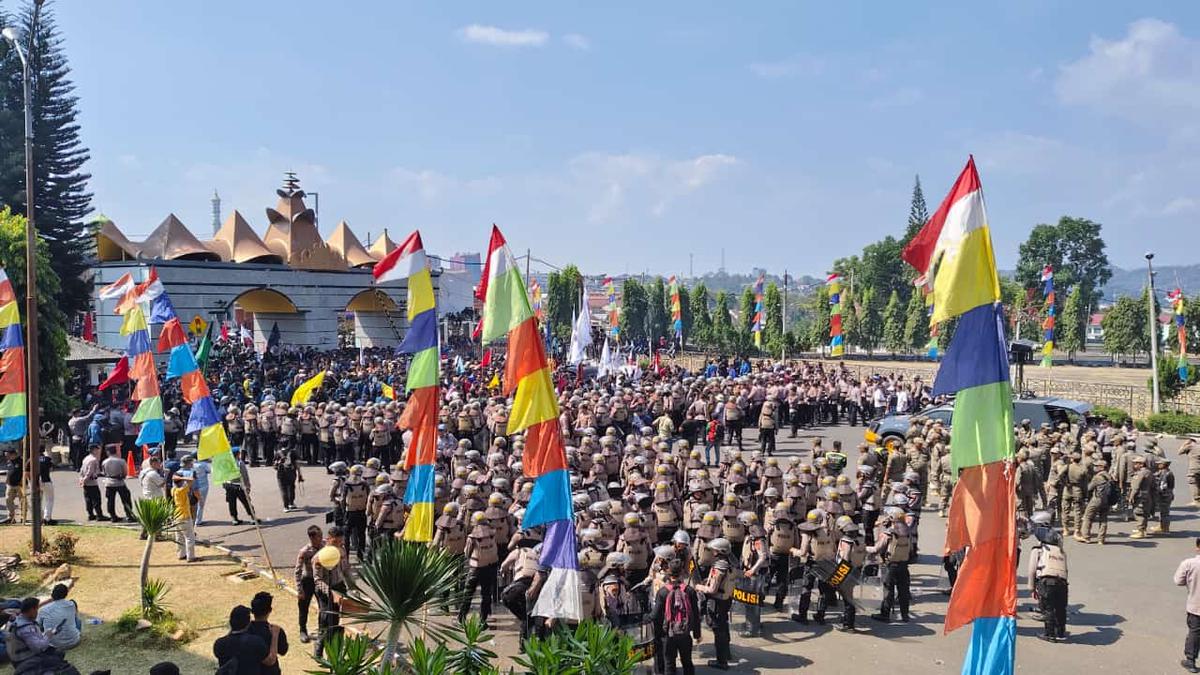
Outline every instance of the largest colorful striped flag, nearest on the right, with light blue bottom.
<svg viewBox="0 0 1200 675">
<path fill-rule="evenodd" d="M 946 632 L 972 623 L 964 674 L 1008 675 L 1016 657 L 1016 501 L 1013 392 L 1004 312 L 974 159 L 901 257 L 934 288 L 935 323 L 959 317 L 934 381 L 954 394 L 947 550 L 967 548 Z"/>
</svg>

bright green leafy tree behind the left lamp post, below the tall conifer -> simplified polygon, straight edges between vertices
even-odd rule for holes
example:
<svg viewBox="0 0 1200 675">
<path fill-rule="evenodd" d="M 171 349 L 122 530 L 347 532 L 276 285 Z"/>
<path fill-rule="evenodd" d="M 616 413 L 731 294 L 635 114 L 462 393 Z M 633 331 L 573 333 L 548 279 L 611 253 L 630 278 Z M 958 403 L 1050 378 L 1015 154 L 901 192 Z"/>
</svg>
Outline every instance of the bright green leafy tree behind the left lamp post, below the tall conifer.
<svg viewBox="0 0 1200 675">
<path fill-rule="evenodd" d="M 71 413 L 72 401 L 64 392 L 67 366 L 66 316 L 55 300 L 61 295 L 59 275 L 50 265 L 50 246 L 44 238 L 37 243 L 37 363 L 38 405 L 44 418 L 60 428 Z M 25 297 L 25 219 L 5 207 L 0 210 L 0 264 L 12 281 L 17 298 Z M 26 321 L 20 303 L 22 321 Z"/>
</svg>

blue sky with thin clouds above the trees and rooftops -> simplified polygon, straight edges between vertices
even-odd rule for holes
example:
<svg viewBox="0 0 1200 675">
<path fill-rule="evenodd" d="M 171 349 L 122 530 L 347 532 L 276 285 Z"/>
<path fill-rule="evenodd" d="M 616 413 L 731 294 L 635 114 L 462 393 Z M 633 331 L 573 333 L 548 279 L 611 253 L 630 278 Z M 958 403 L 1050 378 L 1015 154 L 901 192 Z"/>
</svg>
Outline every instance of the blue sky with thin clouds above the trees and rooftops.
<svg viewBox="0 0 1200 675">
<path fill-rule="evenodd" d="M 95 207 L 131 234 L 209 197 L 265 227 L 496 222 L 586 273 L 820 274 L 932 210 L 968 153 L 1002 267 L 1037 222 L 1195 262 L 1200 25 L 1184 2 L 55 2 Z"/>
</svg>

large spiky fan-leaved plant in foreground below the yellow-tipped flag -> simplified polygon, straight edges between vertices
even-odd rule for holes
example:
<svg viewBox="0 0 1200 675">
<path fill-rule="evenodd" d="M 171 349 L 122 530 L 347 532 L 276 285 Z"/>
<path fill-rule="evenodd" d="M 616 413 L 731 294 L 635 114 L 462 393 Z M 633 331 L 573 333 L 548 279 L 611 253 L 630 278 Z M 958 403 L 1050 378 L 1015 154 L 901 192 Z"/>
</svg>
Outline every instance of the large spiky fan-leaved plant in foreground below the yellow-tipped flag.
<svg viewBox="0 0 1200 675">
<path fill-rule="evenodd" d="M 358 587 L 347 593 L 358 608 L 347 610 L 354 623 L 386 623 L 384 662 L 396 655 L 401 632 L 420 632 L 445 641 L 456 628 L 446 619 L 462 598 L 462 557 L 415 542 L 378 543 L 359 568 Z M 440 610 L 431 620 L 430 609 Z"/>
</svg>

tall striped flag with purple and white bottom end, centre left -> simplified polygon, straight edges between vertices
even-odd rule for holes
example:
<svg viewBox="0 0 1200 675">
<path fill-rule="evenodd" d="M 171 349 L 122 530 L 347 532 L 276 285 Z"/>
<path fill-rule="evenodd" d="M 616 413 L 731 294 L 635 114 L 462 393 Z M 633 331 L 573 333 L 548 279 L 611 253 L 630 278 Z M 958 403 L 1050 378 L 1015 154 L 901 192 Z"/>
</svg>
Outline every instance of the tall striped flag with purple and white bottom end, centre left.
<svg viewBox="0 0 1200 675">
<path fill-rule="evenodd" d="M 493 225 L 487 251 L 484 342 L 508 339 L 504 394 L 514 395 L 508 434 L 524 432 L 524 474 L 534 480 L 522 527 L 546 526 L 541 565 L 550 568 L 533 616 L 581 619 L 580 567 L 566 450 L 558 429 L 558 398 L 546 350 L 521 273 Z"/>
</svg>

